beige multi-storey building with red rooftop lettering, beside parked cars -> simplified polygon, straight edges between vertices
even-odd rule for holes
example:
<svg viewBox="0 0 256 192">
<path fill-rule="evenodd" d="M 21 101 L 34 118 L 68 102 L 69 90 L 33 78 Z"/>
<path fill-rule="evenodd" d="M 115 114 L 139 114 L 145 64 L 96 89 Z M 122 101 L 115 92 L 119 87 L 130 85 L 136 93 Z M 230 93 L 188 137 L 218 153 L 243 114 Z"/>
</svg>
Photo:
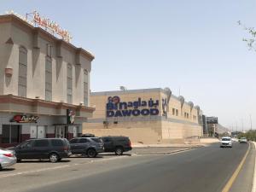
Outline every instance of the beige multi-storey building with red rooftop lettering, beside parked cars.
<svg viewBox="0 0 256 192">
<path fill-rule="evenodd" d="M 37 27 L 14 14 L 0 16 L 1 147 L 35 137 L 79 136 L 94 111 L 94 56 L 39 27 L 45 20 L 36 16 L 42 21 Z"/>
</svg>

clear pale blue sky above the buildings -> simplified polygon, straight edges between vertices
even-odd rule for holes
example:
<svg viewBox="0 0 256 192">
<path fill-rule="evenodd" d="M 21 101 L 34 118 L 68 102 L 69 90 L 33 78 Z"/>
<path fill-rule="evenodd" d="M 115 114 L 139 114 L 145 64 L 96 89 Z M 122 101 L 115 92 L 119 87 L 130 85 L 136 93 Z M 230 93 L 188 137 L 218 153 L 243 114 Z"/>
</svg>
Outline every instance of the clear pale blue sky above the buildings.
<svg viewBox="0 0 256 192">
<path fill-rule="evenodd" d="M 89 50 L 91 90 L 170 87 L 222 125 L 256 129 L 256 52 L 241 20 L 256 27 L 253 0 L 0 0 L 0 13 L 38 10 Z"/>
</svg>

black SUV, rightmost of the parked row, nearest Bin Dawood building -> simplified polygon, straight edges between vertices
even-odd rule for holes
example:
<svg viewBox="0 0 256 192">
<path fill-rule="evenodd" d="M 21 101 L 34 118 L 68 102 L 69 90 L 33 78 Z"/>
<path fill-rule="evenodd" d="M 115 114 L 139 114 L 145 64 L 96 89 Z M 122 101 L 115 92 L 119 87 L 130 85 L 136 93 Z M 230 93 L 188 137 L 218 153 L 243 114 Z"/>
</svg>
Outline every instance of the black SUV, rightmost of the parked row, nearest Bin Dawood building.
<svg viewBox="0 0 256 192">
<path fill-rule="evenodd" d="M 132 149 L 129 137 L 108 136 L 101 138 L 104 143 L 105 152 L 114 152 L 117 155 L 122 155 L 123 152 L 131 151 Z"/>
</svg>

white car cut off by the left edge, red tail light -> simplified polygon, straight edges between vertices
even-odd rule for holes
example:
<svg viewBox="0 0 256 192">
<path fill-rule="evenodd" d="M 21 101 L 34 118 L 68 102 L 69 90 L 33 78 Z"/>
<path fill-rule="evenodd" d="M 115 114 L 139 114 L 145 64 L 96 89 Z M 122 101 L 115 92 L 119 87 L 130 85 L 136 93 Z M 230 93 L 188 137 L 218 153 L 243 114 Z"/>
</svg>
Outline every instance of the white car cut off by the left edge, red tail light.
<svg viewBox="0 0 256 192">
<path fill-rule="evenodd" d="M 0 170 L 7 166 L 15 165 L 16 161 L 17 159 L 14 151 L 0 148 Z"/>
</svg>

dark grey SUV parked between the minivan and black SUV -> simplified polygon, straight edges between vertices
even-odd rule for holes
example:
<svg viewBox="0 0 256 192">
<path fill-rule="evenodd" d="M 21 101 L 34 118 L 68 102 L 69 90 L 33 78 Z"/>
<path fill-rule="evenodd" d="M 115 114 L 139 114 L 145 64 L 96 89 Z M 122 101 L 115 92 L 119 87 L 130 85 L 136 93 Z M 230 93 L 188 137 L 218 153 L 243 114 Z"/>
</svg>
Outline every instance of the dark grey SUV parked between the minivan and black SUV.
<svg viewBox="0 0 256 192">
<path fill-rule="evenodd" d="M 72 154 L 85 154 L 91 158 L 104 152 L 102 139 L 99 137 L 76 137 L 69 143 Z"/>
</svg>

